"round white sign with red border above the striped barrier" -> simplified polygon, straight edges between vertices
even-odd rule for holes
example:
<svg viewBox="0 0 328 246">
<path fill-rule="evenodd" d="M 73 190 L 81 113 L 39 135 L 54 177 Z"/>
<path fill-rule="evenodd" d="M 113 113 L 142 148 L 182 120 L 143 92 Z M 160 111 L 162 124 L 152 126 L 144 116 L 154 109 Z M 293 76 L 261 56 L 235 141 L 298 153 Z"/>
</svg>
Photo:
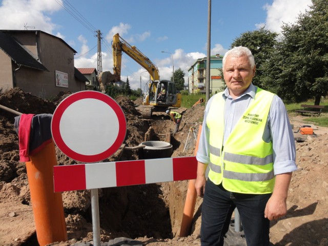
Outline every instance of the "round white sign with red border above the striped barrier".
<svg viewBox="0 0 328 246">
<path fill-rule="evenodd" d="M 66 97 L 51 121 L 57 147 L 81 162 L 97 162 L 114 154 L 126 131 L 127 121 L 120 106 L 97 91 L 80 91 Z"/>
</svg>

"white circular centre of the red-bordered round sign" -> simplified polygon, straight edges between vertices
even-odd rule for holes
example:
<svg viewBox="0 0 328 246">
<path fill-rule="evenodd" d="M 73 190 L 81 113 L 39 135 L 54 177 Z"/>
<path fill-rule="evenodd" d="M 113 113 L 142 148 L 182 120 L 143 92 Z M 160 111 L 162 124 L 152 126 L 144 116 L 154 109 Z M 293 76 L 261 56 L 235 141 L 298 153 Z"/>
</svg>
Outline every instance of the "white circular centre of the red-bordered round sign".
<svg viewBox="0 0 328 246">
<path fill-rule="evenodd" d="M 104 101 L 86 98 L 76 101 L 65 110 L 59 130 L 71 150 L 96 155 L 114 144 L 119 122 L 114 110 Z"/>
</svg>

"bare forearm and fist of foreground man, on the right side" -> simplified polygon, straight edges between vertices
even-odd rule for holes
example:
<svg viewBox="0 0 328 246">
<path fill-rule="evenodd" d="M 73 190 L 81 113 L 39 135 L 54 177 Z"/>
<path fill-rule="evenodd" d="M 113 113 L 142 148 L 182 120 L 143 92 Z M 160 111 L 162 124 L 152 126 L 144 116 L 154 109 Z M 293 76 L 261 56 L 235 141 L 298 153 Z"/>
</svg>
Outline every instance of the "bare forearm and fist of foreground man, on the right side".
<svg viewBox="0 0 328 246">
<path fill-rule="evenodd" d="M 282 173 L 276 175 L 275 188 L 272 196 L 267 202 L 267 206 L 265 206 L 265 218 L 274 220 L 284 216 L 287 213 L 286 199 L 291 178 L 292 173 Z"/>
</svg>

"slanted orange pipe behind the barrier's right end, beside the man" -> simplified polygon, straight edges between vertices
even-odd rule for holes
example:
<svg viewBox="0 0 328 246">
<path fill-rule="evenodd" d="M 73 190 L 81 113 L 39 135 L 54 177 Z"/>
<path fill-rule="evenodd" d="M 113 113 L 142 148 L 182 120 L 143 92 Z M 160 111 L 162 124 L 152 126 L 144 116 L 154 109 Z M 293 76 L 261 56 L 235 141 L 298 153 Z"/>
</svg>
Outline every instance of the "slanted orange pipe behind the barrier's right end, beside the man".
<svg viewBox="0 0 328 246">
<path fill-rule="evenodd" d="M 202 126 L 200 125 L 199 129 L 198 129 L 194 155 L 197 154 L 201 127 Z M 195 204 L 196 204 L 196 198 L 197 198 L 195 181 L 196 181 L 196 179 L 189 180 L 185 208 L 183 208 L 183 215 L 182 215 L 180 235 L 179 235 L 180 237 L 187 237 L 188 235 L 190 235 L 191 223 L 192 223 L 192 219 L 194 216 Z"/>
</svg>

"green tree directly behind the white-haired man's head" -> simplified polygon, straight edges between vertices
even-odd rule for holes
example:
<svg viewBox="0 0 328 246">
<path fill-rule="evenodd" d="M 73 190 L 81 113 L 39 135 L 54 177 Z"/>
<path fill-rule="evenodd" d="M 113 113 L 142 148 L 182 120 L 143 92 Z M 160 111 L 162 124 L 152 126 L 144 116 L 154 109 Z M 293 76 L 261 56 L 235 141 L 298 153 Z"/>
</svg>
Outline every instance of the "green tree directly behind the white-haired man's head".
<svg viewBox="0 0 328 246">
<path fill-rule="evenodd" d="M 261 83 L 261 77 L 263 74 L 262 64 L 267 60 L 277 45 L 276 37 L 277 33 L 265 30 L 264 27 L 255 31 L 244 32 L 234 39 L 230 48 L 235 46 L 244 46 L 252 51 L 256 65 L 256 75 L 253 78 L 253 84 L 263 89 L 264 85 Z"/>
</svg>

